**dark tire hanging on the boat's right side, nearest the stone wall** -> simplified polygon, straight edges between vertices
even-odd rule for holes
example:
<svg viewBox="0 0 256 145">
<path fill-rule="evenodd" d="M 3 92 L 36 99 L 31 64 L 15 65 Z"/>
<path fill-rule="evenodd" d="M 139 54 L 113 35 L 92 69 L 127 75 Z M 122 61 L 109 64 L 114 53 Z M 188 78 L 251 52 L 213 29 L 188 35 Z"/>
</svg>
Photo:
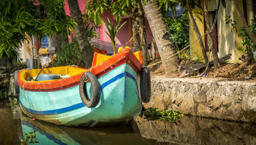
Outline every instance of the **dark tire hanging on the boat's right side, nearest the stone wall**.
<svg viewBox="0 0 256 145">
<path fill-rule="evenodd" d="M 142 67 L 140 70 L 140 98 L 141 102 L 148 103 L 151 98 L 150 69 Z"/>
</svg>

